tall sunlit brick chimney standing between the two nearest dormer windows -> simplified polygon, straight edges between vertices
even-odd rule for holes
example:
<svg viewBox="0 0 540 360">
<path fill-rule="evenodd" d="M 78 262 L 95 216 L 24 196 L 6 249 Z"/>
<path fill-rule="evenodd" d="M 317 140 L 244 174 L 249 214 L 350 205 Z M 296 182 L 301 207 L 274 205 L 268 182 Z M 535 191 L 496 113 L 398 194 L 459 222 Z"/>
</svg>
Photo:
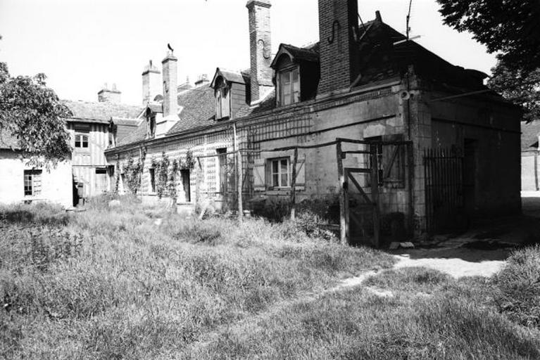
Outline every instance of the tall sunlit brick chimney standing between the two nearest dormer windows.
<svg viewBox="0 0 540 360">
<path fill-rule="evenodd" d="M 273 89 L 270 0 L 249 0 L 249 49 L 251 53 L 251 103 Z"/>
</svg>

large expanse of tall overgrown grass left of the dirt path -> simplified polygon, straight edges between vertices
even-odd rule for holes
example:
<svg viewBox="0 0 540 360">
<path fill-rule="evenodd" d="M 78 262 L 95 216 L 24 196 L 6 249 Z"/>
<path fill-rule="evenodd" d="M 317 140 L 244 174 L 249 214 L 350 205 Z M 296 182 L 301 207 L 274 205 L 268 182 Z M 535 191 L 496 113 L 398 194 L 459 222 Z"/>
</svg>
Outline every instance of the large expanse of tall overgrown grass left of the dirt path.
<svg viewBox="0 0 540 360">
<path fill-rule="evenodd" d="M 109 200 L 0 209 L 0 358 L 170 359 L 216 326 L 393 263 L 291 224 Z"/>
</svg>

